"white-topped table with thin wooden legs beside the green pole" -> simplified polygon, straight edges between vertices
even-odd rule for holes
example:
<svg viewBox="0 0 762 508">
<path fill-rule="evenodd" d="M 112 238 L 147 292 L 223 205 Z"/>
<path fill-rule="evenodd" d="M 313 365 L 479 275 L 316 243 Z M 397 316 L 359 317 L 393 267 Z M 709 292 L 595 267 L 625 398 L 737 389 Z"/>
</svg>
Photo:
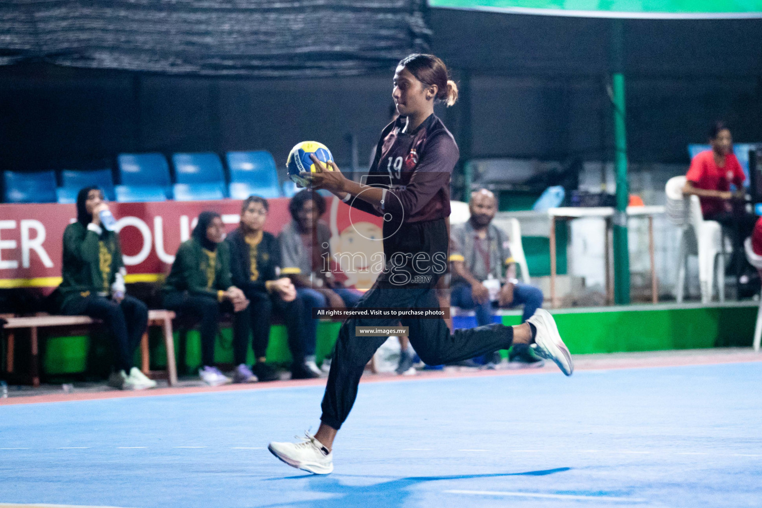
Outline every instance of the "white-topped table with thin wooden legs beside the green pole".
<svg viewBox="0 0 762 508">
<path fill-rule="evenodd" d="M 584 208 L 582 206 L 567 206 L 563 208 L 551 208 L 547 210 L 550 219 L 550 301 L 553 307 L 559 307 L 559 299 L 555 294 L 555 221 L 556 220 L 574 220 L 587 217 L 604 219 L 606 221 L 606 238 L 604 239 L 604 255 L 606 263 L 606 299 L 607 302 L 613 302 L 613 281 L 611 280 L 610 268 L 610 250 L 611 241 L 609 239 L 611 231 L 611 222 L 616 209 L 609 206 L 599 206 L 594 208 Z M 648 255 L 651 260 L 651 297 L 654 303 L 658 302 L 658 286 L 656 283 L 656 270 L 654 262 L 654 216 L 664 213 L 664 206 L 628 206 L 627 218 L 647 218 L 648 219 Z"/>
</svg>

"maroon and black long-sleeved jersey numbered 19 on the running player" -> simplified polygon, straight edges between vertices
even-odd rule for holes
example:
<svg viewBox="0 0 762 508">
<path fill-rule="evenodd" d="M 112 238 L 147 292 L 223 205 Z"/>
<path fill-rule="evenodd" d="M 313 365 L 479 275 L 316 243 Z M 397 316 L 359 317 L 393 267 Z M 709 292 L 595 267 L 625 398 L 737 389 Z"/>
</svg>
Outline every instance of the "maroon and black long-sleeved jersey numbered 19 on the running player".
<svg viewBox="0 0 762 508">
<path fill-rule="evenodd" d="M 352 206 L 376 216 L 391 214 L 401 222 L 424 222 L 450 216 L 450 176 L 459 158 L 458 145 L 432 114 L 411 133 L 405 118 L 381 133 L 367 184 L 383 187 L 383 206 L 352 200 Z"/>
</svg>

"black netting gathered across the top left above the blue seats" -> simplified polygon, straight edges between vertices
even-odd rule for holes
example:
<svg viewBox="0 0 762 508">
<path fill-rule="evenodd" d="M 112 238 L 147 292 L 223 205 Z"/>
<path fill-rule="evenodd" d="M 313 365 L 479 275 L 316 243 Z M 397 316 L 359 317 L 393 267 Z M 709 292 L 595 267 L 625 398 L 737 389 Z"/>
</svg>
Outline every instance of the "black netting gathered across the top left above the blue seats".
<svg viewBox="0 0 762 508">
<path fill-rule="evenodd" d="M 426 50 L 424 0 L 0 2 L 0 65 L 194 75 L 354 75 Z"/>
</svg>

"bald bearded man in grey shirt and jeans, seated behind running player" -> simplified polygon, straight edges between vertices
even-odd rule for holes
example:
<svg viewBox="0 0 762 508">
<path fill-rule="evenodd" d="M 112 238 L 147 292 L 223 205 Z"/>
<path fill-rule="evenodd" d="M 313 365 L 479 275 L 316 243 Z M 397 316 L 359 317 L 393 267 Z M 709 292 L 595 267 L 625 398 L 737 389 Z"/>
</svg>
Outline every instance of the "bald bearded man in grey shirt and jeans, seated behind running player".
<svg viewBox="0 0 762 508">
<path fill-rule="evenodd" d="M 471 194 L 469 209 L 469 220 L 450 229 L 451 304 L 475 309 L 479 326 L 493 322 L 496 307 L 523 305 L 523 323 L 543 305 L 543 292 L 516 280 L 508 235 L 492 224 L 498 211 L 495 196 L 489 190 L 477 190 Z M 497 353 L 488 355 L 488 366 L 499 362 Z M 543 359 L 534 356 L 529 347 L 516 344 L 508 366 L 541 367 Z"/>
</svg>

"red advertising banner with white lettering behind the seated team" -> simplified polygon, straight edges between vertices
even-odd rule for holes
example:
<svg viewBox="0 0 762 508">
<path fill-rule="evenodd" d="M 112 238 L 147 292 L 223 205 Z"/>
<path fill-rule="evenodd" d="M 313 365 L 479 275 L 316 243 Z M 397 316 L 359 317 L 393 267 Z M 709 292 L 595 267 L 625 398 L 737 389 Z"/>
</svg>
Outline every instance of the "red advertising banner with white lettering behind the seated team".
<svg viewBox="0 0 762 508">
<path fill-rule="evenodd" d="M 329 197 L 322 220 L 331 228 L 331 253 L 338 267 L 353 263 L 347 285 L 375 280 L 370 260 L 383 251 L 381 219 L 351 209 Z M 288 198 L 267 200 L 270 213 L 265 230 L 277 235 L 291 220 Z M 240 220 L 241 201 L 165 201 L 161 203 L 109 203 L 120 233 L 126 282 L 154 282 L 169 272 L 174 253 L 190 238 L 197 217 L 204 210 L 219 212 L 228 232 Z M 0 205 L 0 288 L 50 288 L 61 282 L 63 230 L 76 217 L 75 205 Z M 362 252 L 357 257 L 355 254 Z M 350 254 L 347 256 L 342 253 Z M 360 260 L 360 261 L 358 261 Z M 371 282 L 372 283 L 372 282 Z M 370 286 L 365 286 L 370 287 Z"/>
</svg>

